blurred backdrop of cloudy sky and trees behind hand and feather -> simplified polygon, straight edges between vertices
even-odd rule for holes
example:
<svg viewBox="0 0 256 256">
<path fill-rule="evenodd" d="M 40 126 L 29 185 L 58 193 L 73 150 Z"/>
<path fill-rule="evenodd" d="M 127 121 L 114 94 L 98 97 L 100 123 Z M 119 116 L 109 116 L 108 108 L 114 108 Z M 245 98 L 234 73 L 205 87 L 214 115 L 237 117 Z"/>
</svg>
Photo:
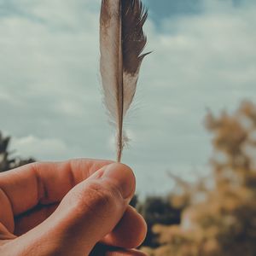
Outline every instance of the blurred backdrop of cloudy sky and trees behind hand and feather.
<svg viewBox="0 0 256 256">
<path fill-rule="evenodd" d="M 33 160 L 114 160 L 100 2 L 0 0 L 1 171 Z M 144 3 L 153 53 L 125 121 L 123 158 L 137 175 L 132 203 L 148 221 L 144 247 L 154 247 L 144 250 L 254 256 L 256 3 Z"/>
</svg>

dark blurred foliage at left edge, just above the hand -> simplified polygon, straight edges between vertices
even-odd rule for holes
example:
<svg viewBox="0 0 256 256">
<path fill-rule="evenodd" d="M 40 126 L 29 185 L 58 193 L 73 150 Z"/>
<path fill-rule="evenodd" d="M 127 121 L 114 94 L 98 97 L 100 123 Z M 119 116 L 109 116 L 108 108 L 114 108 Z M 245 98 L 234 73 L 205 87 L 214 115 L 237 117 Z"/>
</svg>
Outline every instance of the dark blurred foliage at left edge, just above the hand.
<svg viewBox="0 0 256 256">
<path fill-rule="evenodd" d="M 5 172 L 10 169 L 14 169 L 18 166 L 24 166 L 28 163 L 32 163 L 32 158 L 29 159 L 20 159 L 20 158 L 13 158 L 9 153 L 9 143 L 10 137 L 3 137 L 0 131 L 0 172 Z"/>
</svg>

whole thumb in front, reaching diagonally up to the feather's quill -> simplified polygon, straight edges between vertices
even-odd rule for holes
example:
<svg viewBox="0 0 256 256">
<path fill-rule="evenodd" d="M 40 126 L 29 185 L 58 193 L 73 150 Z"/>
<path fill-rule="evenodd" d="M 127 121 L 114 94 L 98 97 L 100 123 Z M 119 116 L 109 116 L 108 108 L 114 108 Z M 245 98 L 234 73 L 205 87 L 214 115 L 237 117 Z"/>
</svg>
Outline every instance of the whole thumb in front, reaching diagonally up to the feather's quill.
<svg viewBox="0 0 256 256">
<path fill-rule="evenodd" d="M 120 164 L 105 166 L 75 186 L 44 223 L 16 239 L 24 254 L 86 255 L 113 230 L 135 190 L 131 169 Z M 44 247 L 36 245 L 44 244 Z M 19 245 L 9 248 L 15 255 Z"/>
</svg>

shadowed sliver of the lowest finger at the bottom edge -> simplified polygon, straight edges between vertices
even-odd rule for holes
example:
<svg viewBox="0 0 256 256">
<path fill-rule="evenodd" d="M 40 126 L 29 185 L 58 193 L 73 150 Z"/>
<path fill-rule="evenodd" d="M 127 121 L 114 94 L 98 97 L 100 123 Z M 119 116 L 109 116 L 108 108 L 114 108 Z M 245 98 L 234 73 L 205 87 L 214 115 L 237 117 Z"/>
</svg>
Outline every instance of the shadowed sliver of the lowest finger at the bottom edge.
<svg viewBox="0 0 256 256">
<path fill-rule="evenodd" d="M 137 250 L 125 250 L 119 247 L 108 247 L 102 244 L 97 244 L 90 256 L 147 256 Z"/>
</svg>

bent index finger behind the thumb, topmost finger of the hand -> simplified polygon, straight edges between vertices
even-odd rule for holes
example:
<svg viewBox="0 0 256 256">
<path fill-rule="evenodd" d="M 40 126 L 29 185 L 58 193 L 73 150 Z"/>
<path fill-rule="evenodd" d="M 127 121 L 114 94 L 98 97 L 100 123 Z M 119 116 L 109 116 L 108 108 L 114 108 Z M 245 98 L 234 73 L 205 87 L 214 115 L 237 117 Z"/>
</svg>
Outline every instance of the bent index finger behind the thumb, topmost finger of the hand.
<svg viewBox="0 0 256 256">
<path fill-rule="evenodd" d="M 9 204 L 14 215 L 38 204 L 59 202 L 76 184 L 110 163 L 90 159 L 32 163 L 0 173 L 0 201 L 5 206 Z"/>
</svg>

